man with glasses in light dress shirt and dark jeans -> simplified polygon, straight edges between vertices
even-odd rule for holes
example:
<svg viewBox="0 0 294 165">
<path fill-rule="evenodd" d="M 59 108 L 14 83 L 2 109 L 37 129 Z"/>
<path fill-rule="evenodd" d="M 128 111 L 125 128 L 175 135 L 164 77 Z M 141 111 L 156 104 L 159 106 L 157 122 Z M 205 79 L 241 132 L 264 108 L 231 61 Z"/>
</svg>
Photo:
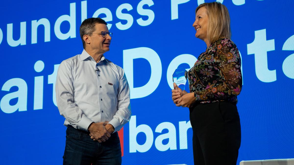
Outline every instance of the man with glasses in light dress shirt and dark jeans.
<svg viewBox="0 0 294 165">
<path fill-rule="evenodd" d="M 62 61 L 56 100 L 65 117 L 63 164 L 121 164 L 117 131 L 130 121 L 130 90 L 121 67 L 107 60 L 112 33 L 101 18 L 80 27 L 82 54 Z"/>
</svg>

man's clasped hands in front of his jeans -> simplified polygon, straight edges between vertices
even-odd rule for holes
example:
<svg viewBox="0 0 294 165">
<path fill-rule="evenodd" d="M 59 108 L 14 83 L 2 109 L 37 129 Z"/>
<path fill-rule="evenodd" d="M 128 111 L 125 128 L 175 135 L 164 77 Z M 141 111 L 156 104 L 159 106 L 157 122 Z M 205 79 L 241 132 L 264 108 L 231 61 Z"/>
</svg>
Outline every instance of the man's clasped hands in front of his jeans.
<svg viewBox="0 0 294 165">
<path fill-rule="evenodd" d="M 110 134 L 114 132 L 114 127 L 108 122 L 91 123 L 88 131 L 91 139 L 101 143 L 108 140 Z"/>
</svg>

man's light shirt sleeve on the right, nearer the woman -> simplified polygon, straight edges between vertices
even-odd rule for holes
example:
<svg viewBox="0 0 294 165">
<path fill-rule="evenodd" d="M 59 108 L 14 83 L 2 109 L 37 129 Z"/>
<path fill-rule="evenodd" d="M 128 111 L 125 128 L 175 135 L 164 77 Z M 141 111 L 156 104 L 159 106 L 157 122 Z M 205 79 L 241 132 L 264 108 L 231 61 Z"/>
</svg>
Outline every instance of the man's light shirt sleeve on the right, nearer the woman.
<svg viewBox="0 0 294 165">
<path fill-rule="evenodd" d="M 131 119 L 131 104 L 130 104 L 130 87 L 126 75 L 122 68 L 118 68 L 120 74 L 120 81 L 117 95 L 117 111 L 113 119 L 109 122 L 114 127 L 114 132 L 119 131 L 124 124 Z"/>
</svg>

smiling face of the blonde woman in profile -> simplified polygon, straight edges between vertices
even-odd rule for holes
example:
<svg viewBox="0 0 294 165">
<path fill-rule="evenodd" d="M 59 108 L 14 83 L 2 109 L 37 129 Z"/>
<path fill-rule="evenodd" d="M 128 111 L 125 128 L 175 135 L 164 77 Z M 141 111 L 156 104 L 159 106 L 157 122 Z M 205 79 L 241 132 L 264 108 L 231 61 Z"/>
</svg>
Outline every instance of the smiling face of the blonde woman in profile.
<svg viewBox="0 0 294 165">
<path fill-rule="evenodd" d="M 208 23 L 208 15 L 206 13 L 206 8 L 201 7 L 200 9 L 198 9 L 196 13 L 193 27 L 196 30 L 195 36 L 204 41 L 207 40 L 207 23 Z"/>
</svg>

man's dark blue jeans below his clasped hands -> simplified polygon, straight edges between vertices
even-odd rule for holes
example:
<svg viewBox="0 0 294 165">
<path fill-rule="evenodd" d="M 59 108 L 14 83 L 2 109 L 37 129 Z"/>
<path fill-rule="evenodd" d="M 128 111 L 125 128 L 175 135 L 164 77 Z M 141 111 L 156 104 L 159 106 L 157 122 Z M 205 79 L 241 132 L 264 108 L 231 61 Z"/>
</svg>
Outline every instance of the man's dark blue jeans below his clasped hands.
<svg viewBox="0 0 294 165">
<path fill-rule="evenodd" d="M 89 132 L 69 126 L 66 129 L 66 144 L 63 156 L 66 165 L 121 164 L 121 144 L 118 133 L 106 141 L 93 141 Z"/>
</svg>

